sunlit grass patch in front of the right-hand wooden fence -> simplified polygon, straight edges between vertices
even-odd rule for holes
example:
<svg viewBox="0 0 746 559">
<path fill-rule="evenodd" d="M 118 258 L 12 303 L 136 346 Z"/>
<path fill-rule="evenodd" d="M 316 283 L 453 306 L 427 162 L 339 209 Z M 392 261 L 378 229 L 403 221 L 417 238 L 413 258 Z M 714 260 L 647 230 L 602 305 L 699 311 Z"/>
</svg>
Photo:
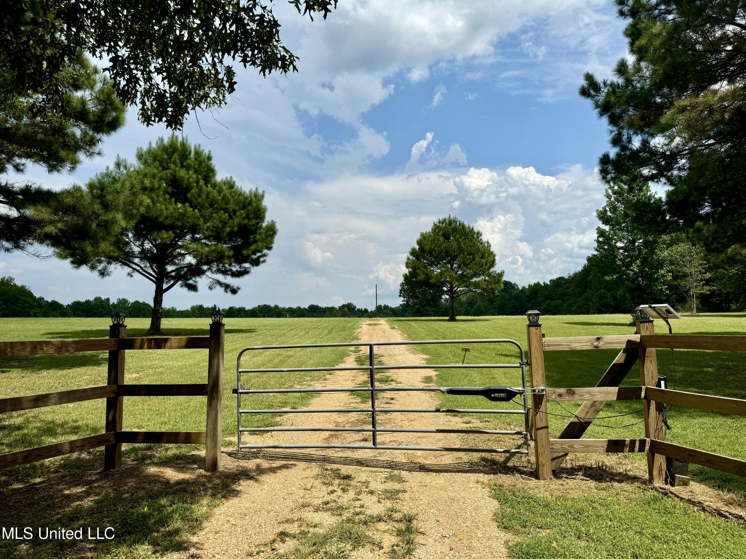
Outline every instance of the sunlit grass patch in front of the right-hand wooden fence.
<svg viewBox="0 0 746 559">
<path fill-rule="evenodd" d="M 498 525 L 520 539 L 513 559 L 745 557 L 746 531 L 653 490 L 538 495 L 495 484 Z"/>
</svg>

